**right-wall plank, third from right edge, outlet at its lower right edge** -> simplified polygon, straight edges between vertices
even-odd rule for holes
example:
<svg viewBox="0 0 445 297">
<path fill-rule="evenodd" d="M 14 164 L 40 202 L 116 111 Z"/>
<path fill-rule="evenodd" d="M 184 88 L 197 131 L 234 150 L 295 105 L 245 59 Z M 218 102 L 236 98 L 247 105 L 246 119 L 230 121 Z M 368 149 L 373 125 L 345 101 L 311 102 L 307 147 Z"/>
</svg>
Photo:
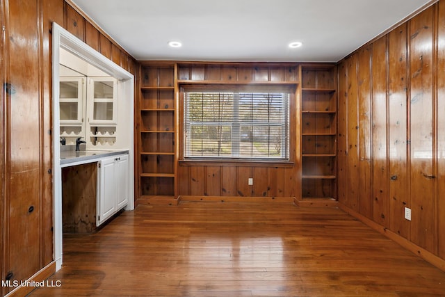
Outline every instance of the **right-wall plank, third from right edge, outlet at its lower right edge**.
<svg viewBox="0 0 445 297">
<path fill-rule="evenodd" d="M 389 33 L 389 227 L 405 238 L 410 224 L 407 191 L 407 31 L 406 24 Z"/>
</svg>

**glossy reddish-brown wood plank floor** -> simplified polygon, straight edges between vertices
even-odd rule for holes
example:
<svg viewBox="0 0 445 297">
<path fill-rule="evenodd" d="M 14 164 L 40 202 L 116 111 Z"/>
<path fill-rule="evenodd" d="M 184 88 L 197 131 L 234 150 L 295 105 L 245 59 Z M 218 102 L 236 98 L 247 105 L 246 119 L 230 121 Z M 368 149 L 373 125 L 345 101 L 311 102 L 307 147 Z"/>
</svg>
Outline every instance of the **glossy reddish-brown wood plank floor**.
<svg viewBox="0 0 445 297">
<path fill-rule="evenodd" d="M 140 205 L 67 235 L 60 287 L 30 296 L 445 296 L 445 272 L 340 209 Z"/>
</svg>

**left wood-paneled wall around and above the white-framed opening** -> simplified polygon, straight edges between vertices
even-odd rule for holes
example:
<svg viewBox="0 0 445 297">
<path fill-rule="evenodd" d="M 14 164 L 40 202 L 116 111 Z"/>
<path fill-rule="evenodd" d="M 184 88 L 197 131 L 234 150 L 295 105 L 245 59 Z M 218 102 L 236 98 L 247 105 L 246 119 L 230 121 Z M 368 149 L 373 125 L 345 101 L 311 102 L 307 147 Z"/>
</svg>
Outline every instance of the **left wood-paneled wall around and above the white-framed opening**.
<svg viewBox="0 0 445 297">
<path fill-rule="evenodd" d="M 20 281 L 53 260 L 52 22 L 131 73 L 136 61 L 63 0 L 1 0 L 0 7 L 0 267 L 1 280 Z"/>
</svg>

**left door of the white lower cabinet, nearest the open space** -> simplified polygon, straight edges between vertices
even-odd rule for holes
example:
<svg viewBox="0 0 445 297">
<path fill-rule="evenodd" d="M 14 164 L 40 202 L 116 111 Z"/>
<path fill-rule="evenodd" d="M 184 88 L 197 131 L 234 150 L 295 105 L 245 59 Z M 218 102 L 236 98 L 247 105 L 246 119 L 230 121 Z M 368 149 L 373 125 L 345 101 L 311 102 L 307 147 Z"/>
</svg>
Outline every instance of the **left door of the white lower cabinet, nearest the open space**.
<svg viewBox="0 0 445 297">
<path fill-rule="evenodd" d="M 100 161 L 100 186 L 97 205 L 97 225 L 102 224 L 116 210 L 115 157 Z"/>
</svg>

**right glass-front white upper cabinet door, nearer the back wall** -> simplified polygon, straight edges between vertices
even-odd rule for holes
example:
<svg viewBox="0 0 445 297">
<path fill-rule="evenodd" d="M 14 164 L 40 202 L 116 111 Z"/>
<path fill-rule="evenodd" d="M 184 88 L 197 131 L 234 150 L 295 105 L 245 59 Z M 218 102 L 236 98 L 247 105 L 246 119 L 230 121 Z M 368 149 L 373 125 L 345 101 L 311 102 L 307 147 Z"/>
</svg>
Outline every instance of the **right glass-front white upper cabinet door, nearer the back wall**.
<svg viewBox="0 0 445 297">
<path fill-rule="evenodd" d="M 118 80 L 88 77 L 88 120 L 90 124 L 116 124 Z"/>
</svg>

